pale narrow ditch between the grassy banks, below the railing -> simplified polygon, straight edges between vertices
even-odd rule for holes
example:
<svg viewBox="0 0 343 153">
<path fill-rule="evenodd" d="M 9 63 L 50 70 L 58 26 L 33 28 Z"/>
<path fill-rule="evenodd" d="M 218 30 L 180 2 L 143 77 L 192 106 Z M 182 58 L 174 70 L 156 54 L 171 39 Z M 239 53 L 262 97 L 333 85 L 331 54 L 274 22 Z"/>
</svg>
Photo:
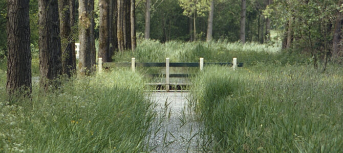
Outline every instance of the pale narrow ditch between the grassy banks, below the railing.
<svg viewBox="0 0 343 153">
<path fill-rule="evenodd" d="M 188 96 L 187 92 L 152 94 L 159 114 L 149 140 L 152 152 L 199 152 L 199 123 L 192 121 L 187 109 Z"/>
</svg>

